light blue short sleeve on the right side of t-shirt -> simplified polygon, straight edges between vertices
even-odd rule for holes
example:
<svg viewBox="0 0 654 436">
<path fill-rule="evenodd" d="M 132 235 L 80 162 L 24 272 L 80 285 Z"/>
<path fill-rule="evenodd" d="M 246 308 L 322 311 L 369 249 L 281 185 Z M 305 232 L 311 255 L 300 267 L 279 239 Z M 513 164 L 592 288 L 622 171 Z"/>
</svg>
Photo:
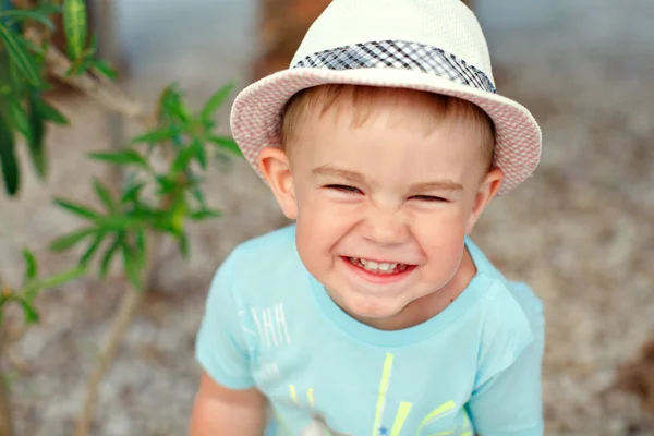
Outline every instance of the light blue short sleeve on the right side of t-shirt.
<svg viewBox="0 0 654 436">
<path fill-rule="evenodd" d="M 543 435 L 541 374 L 545 327 L 541 305 L 530 314 L 524 328 L 529 336 L 513 342 L 524 343 L 514 349 L 517 355 L 479 385 L 468 403 L 475 431 L 482 436 Z"/>
</svg>

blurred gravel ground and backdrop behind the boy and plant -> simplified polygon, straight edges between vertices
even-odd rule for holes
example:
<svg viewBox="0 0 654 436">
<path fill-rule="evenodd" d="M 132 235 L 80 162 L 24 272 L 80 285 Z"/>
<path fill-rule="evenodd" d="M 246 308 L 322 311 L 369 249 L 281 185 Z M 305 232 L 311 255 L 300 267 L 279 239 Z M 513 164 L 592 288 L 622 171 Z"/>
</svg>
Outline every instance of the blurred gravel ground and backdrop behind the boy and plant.
<svg viewBox="0 0 654 436">
<path fill-rule="evenodd" d="M 173 81 L 199 105 L 229 81 L 242 88 L 283 68 L 325 1 L 92 3 L 113 14 L 121 86 L 152 106 Z M 473 8 L 499 92 L 530 108 L 544 132 L 534 177 L 499 198 L 473 237 L 545 303 L 546 434 L 652 435 L 654 352 L 641 352 L 654 337 L 654 1 L 476 0 Z M 108 177 L 85 154 L 110 147 L 117 124 L 75 93 L 53 101 L 73 128 L 49 132 L 48 182 L 25 166 L 21 196 L 0 196 L 0 267 L 10 279 L 20 277 L 23 245 L 46 270 L 76 261 L 47 250 L 78 226 L 51 197 L 92 202 L 88 180 Z M 101 385 L 94 435 L 185 434 L 209 280 L 238 243 L 286 223 L 243 161 L 214 169 L 207 191 L 223 216 L 190 228 L 190 261 L 173 243 L 158 251 L 153 289 Z M 19 435 L 72 434 L 122 283 L 113 274 L 41 295 L 41 323 L 9 347 L 3 363 Z"/>
</svg>

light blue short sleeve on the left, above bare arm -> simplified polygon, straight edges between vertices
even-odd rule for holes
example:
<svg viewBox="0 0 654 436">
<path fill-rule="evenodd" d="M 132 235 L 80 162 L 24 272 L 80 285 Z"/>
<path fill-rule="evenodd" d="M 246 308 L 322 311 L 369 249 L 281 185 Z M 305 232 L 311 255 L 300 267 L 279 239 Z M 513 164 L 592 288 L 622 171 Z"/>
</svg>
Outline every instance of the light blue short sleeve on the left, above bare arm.
<svg viewBox="0 0 654 436">
<path fill-rule="evenodd" d="M 211 281 L 205 314 L 195 342 L 195 356 L 207 374 L 230 389 L 254 386 L 250 358 L 234 299 L 233 256 L 228 257 Z"/>
</svg>

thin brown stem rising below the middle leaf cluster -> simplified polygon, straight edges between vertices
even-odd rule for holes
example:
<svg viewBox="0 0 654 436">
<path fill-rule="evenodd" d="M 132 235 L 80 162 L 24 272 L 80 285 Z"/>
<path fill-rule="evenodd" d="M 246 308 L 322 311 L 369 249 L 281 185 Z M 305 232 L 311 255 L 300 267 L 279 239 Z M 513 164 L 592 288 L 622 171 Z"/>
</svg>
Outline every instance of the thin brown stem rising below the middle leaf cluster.
<svg viewBox="0 0 654 436">
<path fill-rule="evenodd" d="M 148 238 L 147 244 L 147 264 L 142 271 L 143 290 L 137 290 L 131 283 L 128 286 L 120 303 L 120 307 L 111 323 L 111 330 L 105 344 L 105 349 L 100 353 L 96 366 L 93 368 L 90 377 L 86 384 L 86 393 L 84 398 L 84 407 L 77 417 L 77 426 L 75 436 L 88 436 L 89 428 L 93 422 L 94 408 L 98 397 L 100 383 L 109 371 L 113 359 L 118 352 L 118 348 L 122 342 L 130 323 L 136 313 L 145 292 L 149 288 L 149 276 L 154 265 L 154 255 L 157 253 L 157 245 L 161 239 L 161 234 L 154 233 Z M 0 435 L 2 436 L 2 435 Z"/>
</svg>

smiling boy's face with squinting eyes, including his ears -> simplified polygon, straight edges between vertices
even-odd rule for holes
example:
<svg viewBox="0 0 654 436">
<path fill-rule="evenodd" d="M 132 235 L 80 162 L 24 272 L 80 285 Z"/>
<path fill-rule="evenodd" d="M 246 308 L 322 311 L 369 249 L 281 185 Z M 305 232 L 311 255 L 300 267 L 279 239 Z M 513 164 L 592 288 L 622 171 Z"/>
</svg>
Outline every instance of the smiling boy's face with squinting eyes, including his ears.
<svg viewBox="0 0 654 436">
<path fill-rule="evenodd" d="M 380 99 L 352 128 L 343 102 L 299 128 L 290 158 L 262 153 L 269 185 L 296 219 L 302 262 L 360 320 L 402 316 L 453 282 L 464 237 L 501 183 L 498 170 L 482 168 L 475 129 L 453 117 L 425 125 L 424 110 L 420 99 Z"/>
</svg>

